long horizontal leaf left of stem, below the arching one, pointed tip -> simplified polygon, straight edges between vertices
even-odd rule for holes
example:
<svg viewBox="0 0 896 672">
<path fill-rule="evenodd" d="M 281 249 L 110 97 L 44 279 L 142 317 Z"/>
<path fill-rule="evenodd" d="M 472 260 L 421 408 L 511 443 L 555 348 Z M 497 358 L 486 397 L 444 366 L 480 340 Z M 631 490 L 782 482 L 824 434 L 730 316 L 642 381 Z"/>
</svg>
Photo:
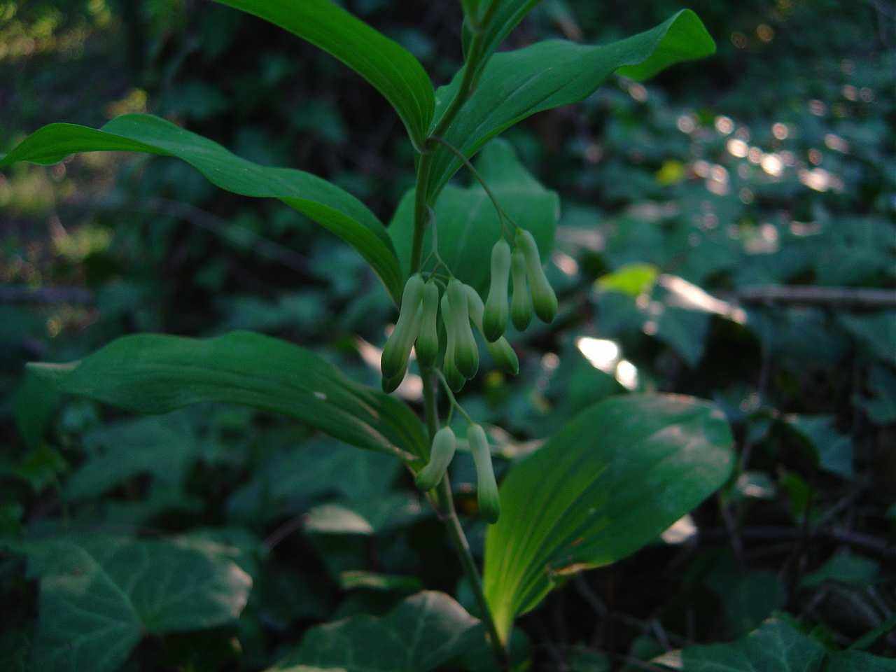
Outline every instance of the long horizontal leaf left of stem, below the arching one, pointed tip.
<svg viewBox="0 0 896 672">
<path fill-rule="evenodd" d="M 350 381 L 309 350 L 257 333 L 213 339 L 137 334 L 71 364 L 29 367 L 60 392 L 137 413 L 236 403 L 297 418 L 347 444 L 402 460 L 427 454 L 423 426 L 401 401 Z"/>
</svg>

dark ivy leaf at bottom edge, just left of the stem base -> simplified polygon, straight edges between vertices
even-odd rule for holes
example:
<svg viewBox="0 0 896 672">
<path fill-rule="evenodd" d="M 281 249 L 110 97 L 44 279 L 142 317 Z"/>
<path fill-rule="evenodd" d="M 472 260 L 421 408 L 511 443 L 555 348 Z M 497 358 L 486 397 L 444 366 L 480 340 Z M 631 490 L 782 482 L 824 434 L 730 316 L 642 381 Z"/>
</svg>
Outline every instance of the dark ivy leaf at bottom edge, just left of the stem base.
<svg viewBox="0 0 896 672">
<path fill-rule="evenodd" d="M 386 616 L 311 628 L 268 672 L 428 672 L 461 654 L 478 620 L 441 592 L 412 595 Z M 334 669 L 335 668 L 335 669 Z"/>
</svg>

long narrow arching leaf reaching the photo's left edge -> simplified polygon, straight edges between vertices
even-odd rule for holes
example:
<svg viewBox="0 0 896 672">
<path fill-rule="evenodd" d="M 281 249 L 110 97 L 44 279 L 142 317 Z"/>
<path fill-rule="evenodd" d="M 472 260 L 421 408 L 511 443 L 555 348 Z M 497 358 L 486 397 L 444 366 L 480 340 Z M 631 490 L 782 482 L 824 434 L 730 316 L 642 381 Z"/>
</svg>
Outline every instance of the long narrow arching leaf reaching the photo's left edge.
<svg viewBox="0 0 896 672">
<path fill-rule="evenodd" d="M 0 168 L 19 161 L 50 165 L 79 151 L 140 151 L 177 157 L 221 189 L 258 198 L 278 198 L 353 246 L 383 280 L 392 298 L 401 297 L 401 271 L 392 240 L 364 203 L 340 187 L 292 168 L 270 168 L 240 159 L 202 135 L 159 116 L 118 116 L 101 129 L 74 124 L 39 128 L 0 159 Z"/>
</svg>

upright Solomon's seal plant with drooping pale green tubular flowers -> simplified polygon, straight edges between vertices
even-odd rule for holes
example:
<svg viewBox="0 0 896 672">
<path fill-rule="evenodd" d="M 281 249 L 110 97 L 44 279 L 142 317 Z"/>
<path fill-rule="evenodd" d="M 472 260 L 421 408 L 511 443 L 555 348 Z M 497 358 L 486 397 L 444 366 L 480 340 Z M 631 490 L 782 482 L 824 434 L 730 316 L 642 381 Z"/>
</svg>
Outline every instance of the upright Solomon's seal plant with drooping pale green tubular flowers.
<svg viewBox="0 0 896 672">
<path fill-rule="evenodd" d="M 516 375 L 526 363 L 513 341 L 530 328 L 533 314 L 550 325 L 564 306 L 546 272 L 556 195 L 530 176 L 509 145 L 490 141 L 528 116 L 588 97 L 613 73 L 643 80 L 711 55 L 714 44 L 685 10 L 608 45 L 550 40 L 498 52 L 538 0 L 464 0 L 464 65 L 435 89 L 409 51 L 331 0 L 216 1 L 329 52 L 392 104 L 415 152 L 417 180 L 389 228 L 321 177 L 257 165 L 158 116 L 119 116 L 99 129 L 47 125 L 0 157 L 0 168 L 50 165 L 75 152 L 145 152 L 182 159 L 221 189 L 279 199 L 357 250 L 400 307 L 383 347 L 383 391 L 349 380 L 309 350 L 251 332 L 212 339 L 136 334 L 73 363 L 30 365 L 29 375 L 59 392 L 145 414 L 206 401 L 245 404 L 403 461 L 445 522 L 478 619 L 447 596 L 421 593 L 383 623 L 435 619 L 442 627 L 438 645 L 421 652 L 411 650 L 418 640 L 405 642 L 411 653 L 377 669 L 438 668 L 460 655 L 468 632 L 489 643 L 495 666 L 509 668 L 517 616 L 571 573 L 612 563 L 657 538 L 726 481 L 732 456 L 728 425 L 711 404 L 616 396 L 513 461 L 498 487 L 491 433 L 455 394 L 486 369 Z M 470 188 L 451 183 L 461 169 L 473 178 Z M 391 394 L 411 367 L 423 383 L 422 420 Z M 440 415 L 445 409 L 447 418 Z M 460 424 L 452 424 L 454 411 Z M 448 470 L 460 450 L 472 453 L 478 515 L 489 523 L 481 575 L 452 501 Z M 234 616 L 225 611 L 203 625 Z M 127 640 L 131 647 L 142 632 Z M 315 649 L 316 636 L 306 636 L 290 664 L 354 669 L 350 647 Z M 48 651 L 37 654 L 44 657 L 41 669 L 61 668 L 59 646 L 50 626 L 41 625 L 37 649 Z M 129 650 L 104 650 L 93 669 L 115 669 Z"/>
</svg>

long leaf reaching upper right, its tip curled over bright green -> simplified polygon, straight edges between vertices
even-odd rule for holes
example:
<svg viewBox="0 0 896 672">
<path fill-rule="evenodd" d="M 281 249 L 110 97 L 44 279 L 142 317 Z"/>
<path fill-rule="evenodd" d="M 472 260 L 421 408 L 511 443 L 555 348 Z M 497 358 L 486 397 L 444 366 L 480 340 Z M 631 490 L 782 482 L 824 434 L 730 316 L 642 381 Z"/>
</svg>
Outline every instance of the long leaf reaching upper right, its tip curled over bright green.
<svg viewBox="0 0 896 672">
<path fill-rule="evenodd" d="M 445 139 L 469 158 L 527 116 L 587 98 L 614 72 L 647 79 L 669 65 L 714 51 L 715 43 L 700 19 L 685 10 L 652 30 L 606 46 L 550 40 L 495 54 Z M 436 124 L 460 86 L 461 75 L 435 92 Z M 461 165 L 452 151 L 440 146 L 433 159 L 431 195 L 438 194 Z"/>
</svg>

